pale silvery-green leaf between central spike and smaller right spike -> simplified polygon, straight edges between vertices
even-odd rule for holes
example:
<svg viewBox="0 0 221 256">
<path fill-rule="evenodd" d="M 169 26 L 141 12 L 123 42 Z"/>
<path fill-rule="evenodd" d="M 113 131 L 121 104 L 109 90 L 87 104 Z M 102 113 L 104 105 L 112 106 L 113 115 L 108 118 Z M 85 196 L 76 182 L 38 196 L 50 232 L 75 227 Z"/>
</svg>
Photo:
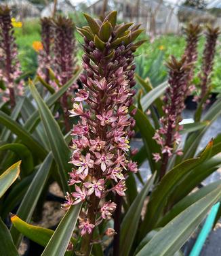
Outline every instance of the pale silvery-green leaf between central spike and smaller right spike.
<svg viewBox="0 0 221 256">
<path fill-rule="evenodd" d="M 141 105 L 144 111 L 146 111 L 149 108 L 149 106 L 165 92 L 167 86 L 167 81 L 163 82 L 159 86 L 155 87 L 155 89 L 147 93 L 144 97 L 142 97 Z"/>
</svg>

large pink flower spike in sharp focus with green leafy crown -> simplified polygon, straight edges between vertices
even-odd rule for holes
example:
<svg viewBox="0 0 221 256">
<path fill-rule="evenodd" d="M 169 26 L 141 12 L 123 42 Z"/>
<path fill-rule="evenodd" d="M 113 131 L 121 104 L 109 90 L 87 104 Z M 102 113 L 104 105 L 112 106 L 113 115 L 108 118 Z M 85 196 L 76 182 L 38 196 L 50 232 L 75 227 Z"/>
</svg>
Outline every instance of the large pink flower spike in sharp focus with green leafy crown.
<svg viewBox="0 0 221 256">
<path fill-rule="evenodd" d="M 83 89 L 76 93 L 70 111 L 79 116 L 72 130 L 74 167 L 68 182 L 75 192 L 67 194 L 63 207 L 84 202 L 79 218 L 81 253 L 89 255 L 94 227 L 116 208 L 106 195 L 124 196 L 127 172 L 137 172 L 136 163 L 127 159 L 135 125 L 128 108 L 135 94 L 134 52 L 144 40 L 134 43 L 143 30 L 132 23 L 117 25 L 117 12 L 102 20 L 84 16 L 88 26 L 77 29 L 84 39 Z"/>
</svg>

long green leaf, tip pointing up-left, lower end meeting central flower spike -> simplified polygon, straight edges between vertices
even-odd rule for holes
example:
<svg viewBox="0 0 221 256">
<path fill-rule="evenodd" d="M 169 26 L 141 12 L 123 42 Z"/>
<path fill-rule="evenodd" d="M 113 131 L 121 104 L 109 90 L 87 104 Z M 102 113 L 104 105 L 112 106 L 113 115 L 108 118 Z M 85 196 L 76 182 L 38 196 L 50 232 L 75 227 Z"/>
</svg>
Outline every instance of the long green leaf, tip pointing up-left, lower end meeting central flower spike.
<svg viewBox="0 0 221 256">
<path fill-rule="evenodd" d="M 71 150 L 68 148 L 64 140 L 62 131 L 60 130 L 58 123 L 54 119 L 52 112 L 50 112 L 49 108 L 39 95 L 33 82 L 29 83 L 29 87 L 39 108 L 39 114 L 41 116 L 41 121 L 43 123 L 45 133 L 48 137 L 49 146 L 52 150 L 52 154 L 54 155 L 54 159 L 58 164 L 63 189 L 64 191 L 70 191 L 70 187 L 67 185 L 67 180 L 68 170 L 71 169 L 70 164 L 68 163 L 71 155 Z"/>
</svg>

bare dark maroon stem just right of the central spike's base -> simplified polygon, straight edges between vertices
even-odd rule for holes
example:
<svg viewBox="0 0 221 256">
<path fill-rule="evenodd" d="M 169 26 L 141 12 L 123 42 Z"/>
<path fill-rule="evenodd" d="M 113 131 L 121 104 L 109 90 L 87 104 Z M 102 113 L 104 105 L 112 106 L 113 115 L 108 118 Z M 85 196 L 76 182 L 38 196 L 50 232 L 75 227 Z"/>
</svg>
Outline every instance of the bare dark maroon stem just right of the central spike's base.
<svg viewBox="0 0 221 256">
<path fill-rule="evenodd" d="M 120 255 L 120 236 L 121 236 L 121 208 L 122 208 L 122 197 L 118 194 L 115 196 L 115 203 L 117 204 L 117 208 L 115 210 L 115 217 L 114 217 L 114 229 L 117 233 L 114 236 L 114 248 L 113 248 L 113 255 L 119 256 Z"/>
</svg>

